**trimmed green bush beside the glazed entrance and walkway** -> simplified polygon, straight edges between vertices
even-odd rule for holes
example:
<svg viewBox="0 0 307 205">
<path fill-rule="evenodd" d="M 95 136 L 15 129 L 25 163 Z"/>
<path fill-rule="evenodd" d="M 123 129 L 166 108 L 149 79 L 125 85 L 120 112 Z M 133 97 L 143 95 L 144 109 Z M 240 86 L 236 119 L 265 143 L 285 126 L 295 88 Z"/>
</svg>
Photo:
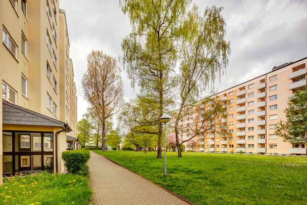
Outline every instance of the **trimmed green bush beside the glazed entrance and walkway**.
<svg viewBox="0 0 307 205">
<path fill-rule="evenodd" d="M 86 163 L 89 160 L 89 157 L 89 151 L 84 149 L 62 152 L 62 159 L 64 160 L 65 167 L 69 174 L 87 176 L 88 166 Z"/>
</svg>

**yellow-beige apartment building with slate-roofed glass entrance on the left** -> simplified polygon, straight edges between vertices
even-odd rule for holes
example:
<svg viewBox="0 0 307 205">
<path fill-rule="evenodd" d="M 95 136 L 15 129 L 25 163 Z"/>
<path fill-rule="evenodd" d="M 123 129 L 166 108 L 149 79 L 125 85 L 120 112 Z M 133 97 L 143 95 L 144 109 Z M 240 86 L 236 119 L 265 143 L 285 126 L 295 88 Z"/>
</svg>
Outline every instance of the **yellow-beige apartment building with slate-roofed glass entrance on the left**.
<svg viewBox="0 0 307 205">
<path fill-rule="evenodd" d="M 65 11 L 59 0 L 2 0 L 0 27 L 0 174 L 63 173 L 61 152 L 77 136 Z"/>
</svg>

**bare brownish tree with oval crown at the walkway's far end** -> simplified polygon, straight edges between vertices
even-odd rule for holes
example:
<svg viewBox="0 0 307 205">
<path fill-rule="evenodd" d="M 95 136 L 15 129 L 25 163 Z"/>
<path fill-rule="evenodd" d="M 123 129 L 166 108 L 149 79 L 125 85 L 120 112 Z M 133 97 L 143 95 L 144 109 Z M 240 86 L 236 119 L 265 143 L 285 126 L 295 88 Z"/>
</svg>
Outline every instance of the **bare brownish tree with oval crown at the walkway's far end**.
<svg viewBox="0 0 307 205">
<path fill-rule="evenodd" d="M 95 109 L 102 124 L 102 150 L 106 150 L 106 120 L 116 114 L 123 104 L 121 69 L 116 59 L 92 51 L 87 56 L 87 71 L 82 78 L 84 99 Z"/>
</svg>

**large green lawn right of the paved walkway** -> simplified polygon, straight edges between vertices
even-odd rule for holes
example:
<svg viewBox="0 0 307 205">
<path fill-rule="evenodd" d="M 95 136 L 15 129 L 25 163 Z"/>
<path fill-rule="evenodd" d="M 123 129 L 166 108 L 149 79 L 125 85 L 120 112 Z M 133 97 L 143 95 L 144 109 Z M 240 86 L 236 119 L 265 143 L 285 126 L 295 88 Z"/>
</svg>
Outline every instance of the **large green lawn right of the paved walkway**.
<svg viewBox="0 0 307 205">
<path fill-rule="evenodd" d="M 105 155 L 101 151 L 95 151 Z M 106 157 L 196 204 L 306 204 L 307 158 L 107 151 Z"/>
</svg>

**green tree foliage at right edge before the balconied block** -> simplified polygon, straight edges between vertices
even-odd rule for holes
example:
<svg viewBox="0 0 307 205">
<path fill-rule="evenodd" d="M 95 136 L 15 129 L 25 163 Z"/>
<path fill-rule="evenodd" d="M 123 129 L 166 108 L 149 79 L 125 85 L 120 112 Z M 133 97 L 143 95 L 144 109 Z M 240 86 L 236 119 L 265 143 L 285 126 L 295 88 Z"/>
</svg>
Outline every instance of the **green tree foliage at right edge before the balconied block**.
<svg viewBox="0 0 307 205">
<path fill-rule="evenodd" d="M 307 142 L 307 86 L 296 91 L 285 109 L 286 121 L 280 121 L 275 134 L 293 144 Z"/>
</svg>

